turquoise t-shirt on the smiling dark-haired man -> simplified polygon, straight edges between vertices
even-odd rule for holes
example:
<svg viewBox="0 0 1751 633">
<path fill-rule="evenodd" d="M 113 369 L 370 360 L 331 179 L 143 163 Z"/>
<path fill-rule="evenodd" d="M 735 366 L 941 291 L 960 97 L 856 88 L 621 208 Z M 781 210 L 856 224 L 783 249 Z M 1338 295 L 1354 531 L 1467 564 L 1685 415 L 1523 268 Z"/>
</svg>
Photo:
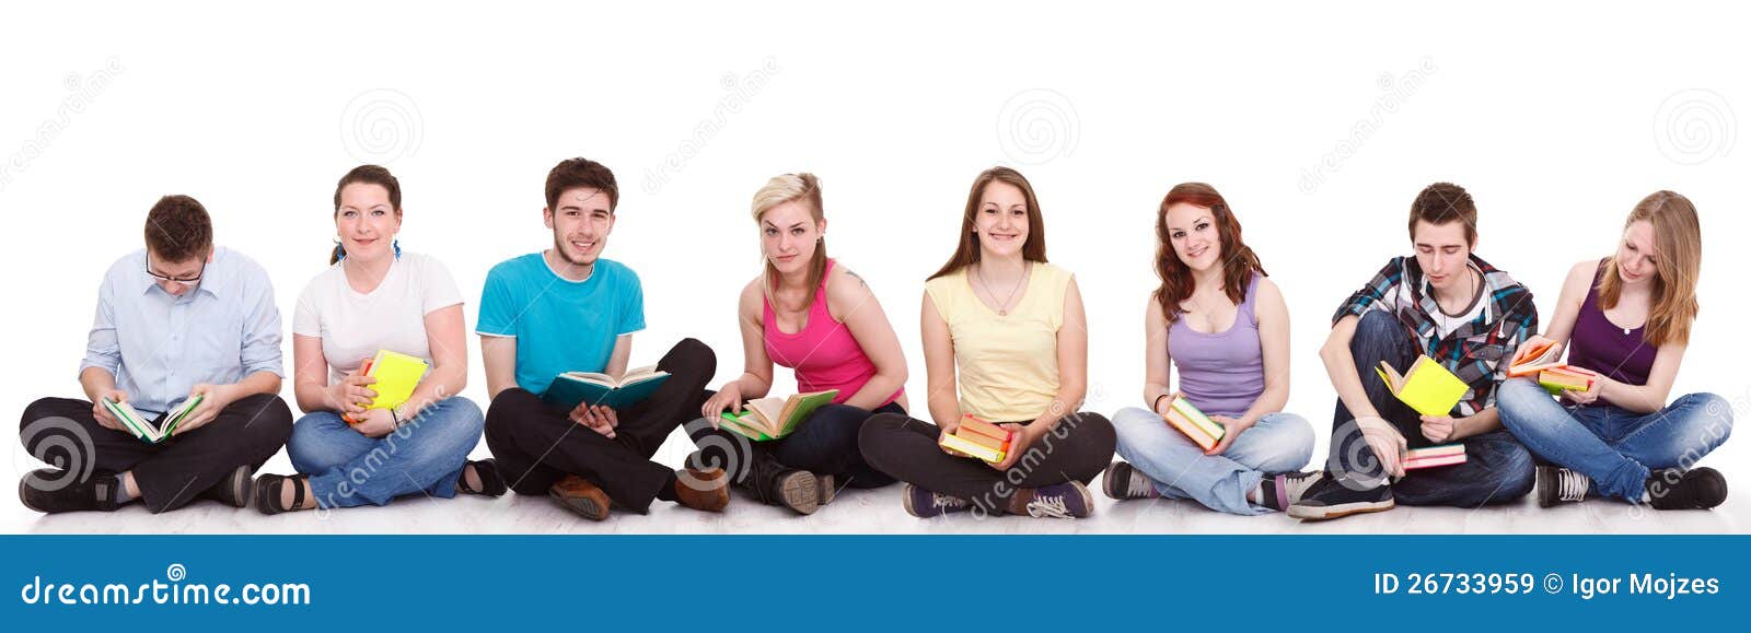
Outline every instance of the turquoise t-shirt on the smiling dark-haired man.
<svg viewBox="0 0 1751 633">
<path fill-rule="evenodd" d="M 622 262 L 597 259 L 588 280 L 571 282 L 541 254 L 508 259 L 487 273 L 475 332 L 517 337 L 517 386 L 541 395 L 553 376 L 602 371 L 615 339 L 644 329 L 644 289 Z"/>
</svg>

